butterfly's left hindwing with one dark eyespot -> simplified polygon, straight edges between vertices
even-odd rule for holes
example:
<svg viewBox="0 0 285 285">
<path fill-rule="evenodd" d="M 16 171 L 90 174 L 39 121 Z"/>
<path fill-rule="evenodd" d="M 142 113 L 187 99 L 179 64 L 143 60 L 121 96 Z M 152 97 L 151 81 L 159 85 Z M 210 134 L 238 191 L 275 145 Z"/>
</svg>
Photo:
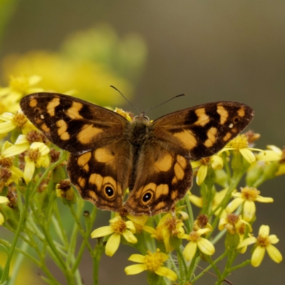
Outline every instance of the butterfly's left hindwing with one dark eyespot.
<svg viewBox="0 0 285 285">
<path fill-rule="evenodd" d="M 118 212 L 132 170 L 130 145 L 121 139 L 81 155 L 71 154 L 67 170 L 83 199 Z"/>
</svg>

